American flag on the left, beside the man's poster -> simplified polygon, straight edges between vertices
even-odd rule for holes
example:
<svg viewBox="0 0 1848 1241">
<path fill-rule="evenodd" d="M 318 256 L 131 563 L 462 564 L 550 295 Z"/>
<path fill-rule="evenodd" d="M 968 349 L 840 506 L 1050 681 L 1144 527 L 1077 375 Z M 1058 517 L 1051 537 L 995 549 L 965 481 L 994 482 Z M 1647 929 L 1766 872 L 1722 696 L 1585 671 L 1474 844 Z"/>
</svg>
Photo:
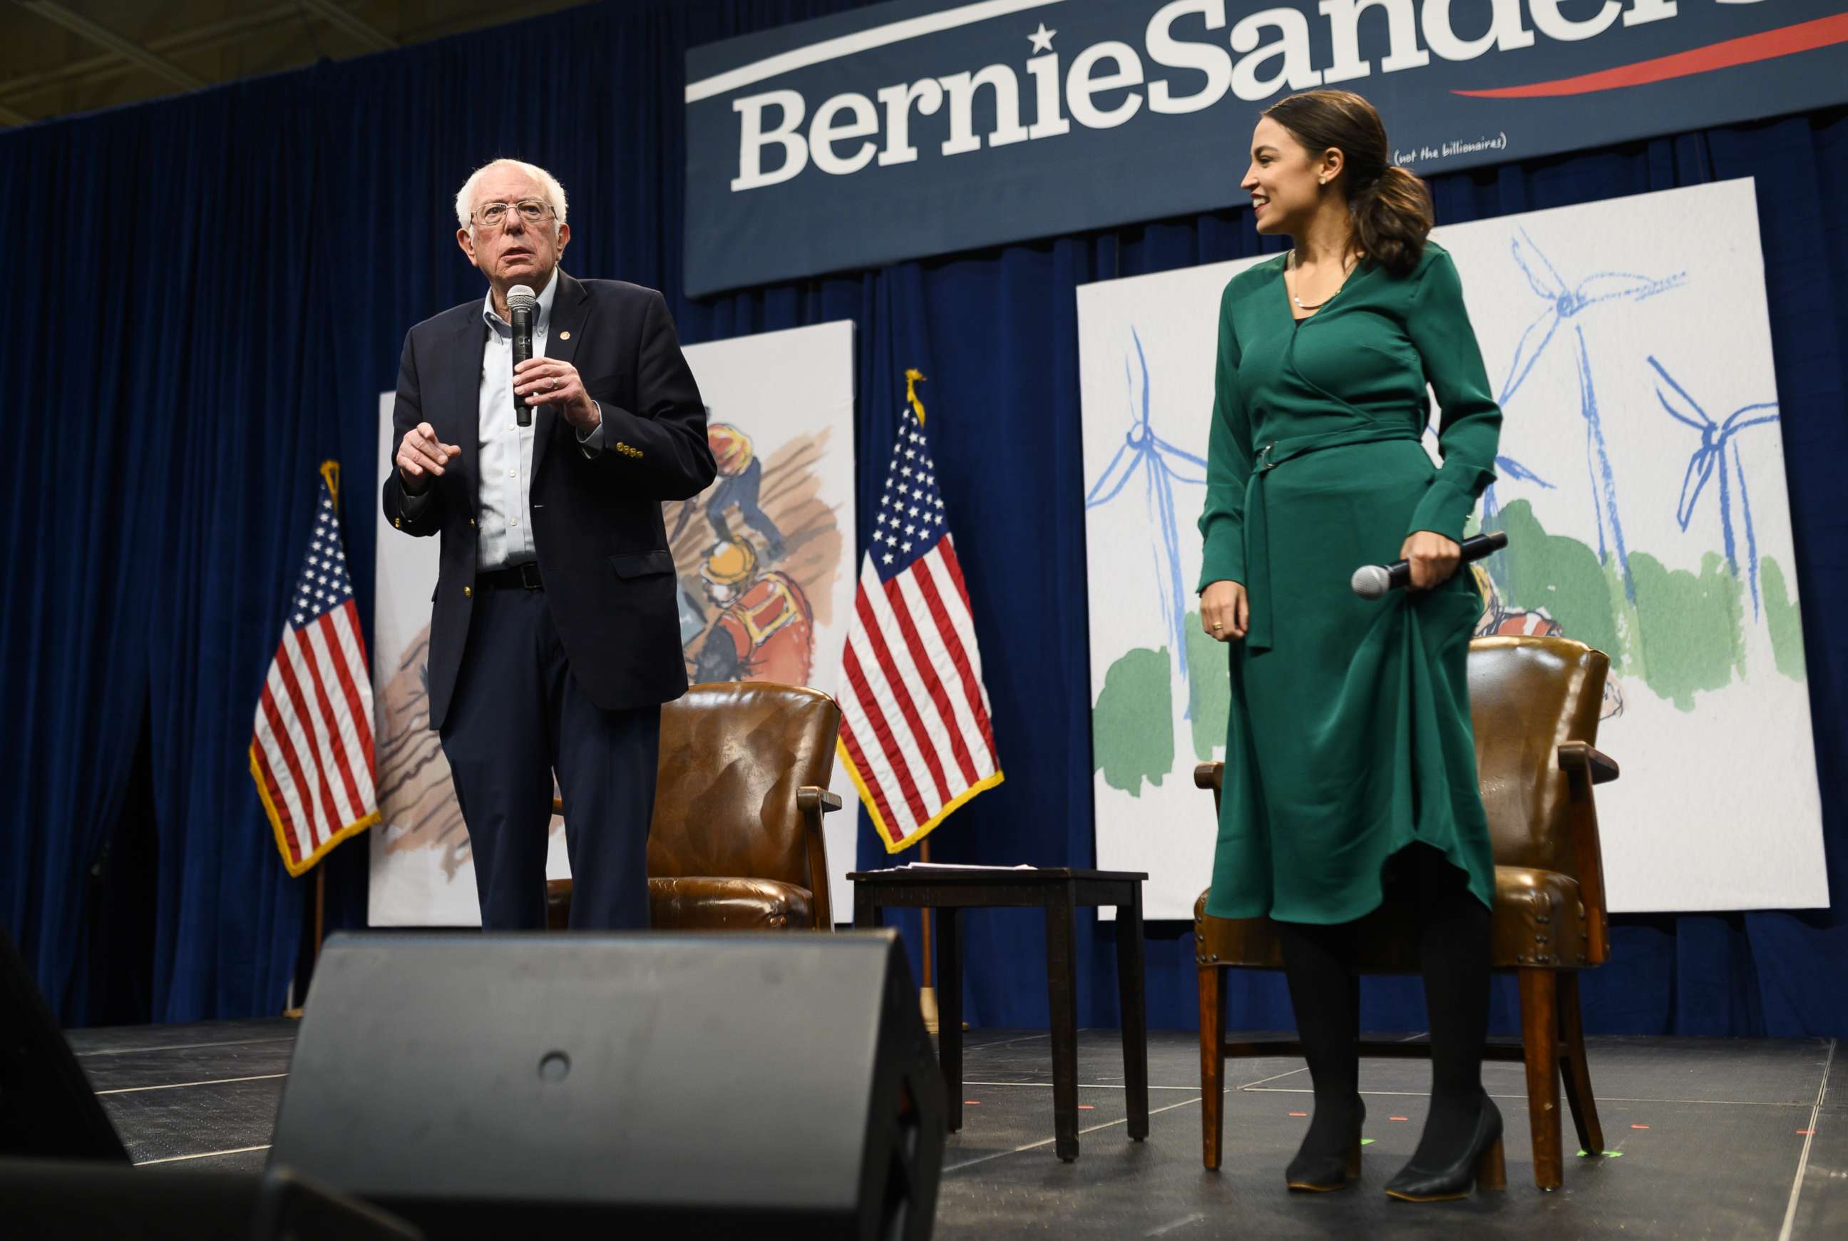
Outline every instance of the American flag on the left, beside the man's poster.
<svg viewBox="0 0 1848 1241">
<path fill-rule="evenodd" d="M 249 738 L 249 773 L 290 875 L 301 875 L 336 843 L 379 821 L 371 786 L 371 675 L 329 466 L 322 468 L 314 538 L 288 599 L 283 640 L 262 679 Z"/>
</svg>

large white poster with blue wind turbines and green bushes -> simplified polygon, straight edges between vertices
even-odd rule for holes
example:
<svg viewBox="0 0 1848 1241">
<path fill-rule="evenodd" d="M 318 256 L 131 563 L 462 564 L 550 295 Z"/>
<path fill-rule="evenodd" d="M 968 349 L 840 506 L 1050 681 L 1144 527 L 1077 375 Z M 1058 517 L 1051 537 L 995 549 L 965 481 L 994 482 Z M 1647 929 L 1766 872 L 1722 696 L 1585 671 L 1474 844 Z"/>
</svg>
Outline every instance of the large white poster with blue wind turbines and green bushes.
<svg viewBox="0 0 1848 1241">
<path fill-rule="evenodd" d="M 1828 904 L 1752 181 L 1434 237 L 1504 411 L 1477 633 L 1611 657 L 1611 908 Z M 1258 261 L 1077 290 L 1098 866 L 1149 871 L 1149 917 L 1190 917 L 1212 867 L 1192 769 L 1223 758 L 1229 686 L 1196 520 L 1220 292 Z"/>
</svg>

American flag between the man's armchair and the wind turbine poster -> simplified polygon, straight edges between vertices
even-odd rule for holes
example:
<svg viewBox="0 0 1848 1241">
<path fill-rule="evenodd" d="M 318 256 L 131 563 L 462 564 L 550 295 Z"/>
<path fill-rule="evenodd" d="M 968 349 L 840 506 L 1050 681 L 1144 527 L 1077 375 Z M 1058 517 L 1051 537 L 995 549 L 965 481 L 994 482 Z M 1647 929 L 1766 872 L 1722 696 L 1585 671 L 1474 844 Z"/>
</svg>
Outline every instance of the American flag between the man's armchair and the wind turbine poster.
<svg viewBox="0 0 1848 1241">
<path fill-rule="evenodd" d="M 968 588 L 911 385 L 841 677 L 841 760 L 887 853 L 1002 782 Z"/>
</svg>

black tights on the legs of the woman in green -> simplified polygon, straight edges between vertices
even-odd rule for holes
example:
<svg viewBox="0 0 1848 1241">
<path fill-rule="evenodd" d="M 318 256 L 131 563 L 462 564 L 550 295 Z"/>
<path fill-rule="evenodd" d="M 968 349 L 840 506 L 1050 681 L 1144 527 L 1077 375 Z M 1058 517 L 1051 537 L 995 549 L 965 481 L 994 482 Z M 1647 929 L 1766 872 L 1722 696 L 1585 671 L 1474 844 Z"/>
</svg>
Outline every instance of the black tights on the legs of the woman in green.
<svg viewBox="0 0 1848 1241">
<path fill-rule="evenodd" d="M 1416 1161 L 1440 1161 L 1469 1143 L 1482 1099 L 1489 1023 L 1489 910 L 1469 877 L 1430 845 L 1388 864 L 1393 895 L 1417 910 L 1419 967 L 1430 1021 L 1430 1117 Z M 1316 1089 L 1310 1143 L 1340 1143 L 1360 1089 L 1356 923 L 1277 923 L 1290 1006 Z M 1327 1117 L 1327 1119 L 1323 1119 Z"/>
</svg>

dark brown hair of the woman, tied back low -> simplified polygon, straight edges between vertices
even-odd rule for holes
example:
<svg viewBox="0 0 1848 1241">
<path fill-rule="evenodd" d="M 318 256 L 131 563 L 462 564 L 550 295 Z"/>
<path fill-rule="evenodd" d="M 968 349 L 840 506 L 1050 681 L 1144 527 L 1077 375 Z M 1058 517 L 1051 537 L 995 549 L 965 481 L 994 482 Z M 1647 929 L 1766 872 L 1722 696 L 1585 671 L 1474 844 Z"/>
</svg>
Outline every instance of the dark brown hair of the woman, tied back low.
<svg viewBox="0 0 1848 1241">
<path fill-rule="evenodd" d="M 1342 178 L 1360 252 L 1393 276 L 1410 276 L 1430 235 L 1430 189 L 1386 163 L 1386 126 L 1373 105 L 1353 91 L 1303 91 L 1277 100 L 1264 115 L 1310 155 L 1340 148 L 1347 159 Z"/>
</svg>

